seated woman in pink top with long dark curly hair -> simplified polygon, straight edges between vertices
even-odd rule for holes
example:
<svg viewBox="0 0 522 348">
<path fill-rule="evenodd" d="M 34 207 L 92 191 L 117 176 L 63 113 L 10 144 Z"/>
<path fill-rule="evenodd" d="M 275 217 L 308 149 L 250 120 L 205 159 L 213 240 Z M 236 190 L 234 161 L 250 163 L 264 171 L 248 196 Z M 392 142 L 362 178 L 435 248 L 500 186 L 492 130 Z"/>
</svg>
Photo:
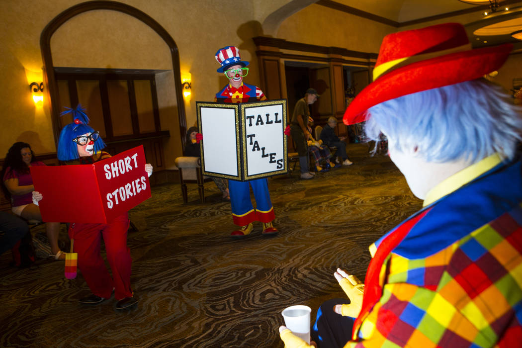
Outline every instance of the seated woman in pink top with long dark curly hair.
<svg viewBox="0 0 522 348">
<path fill-rule="evenodd" d="M 34 158 L 31 146 L 26 142 L 15 142 L 6 154 L 2 168 L 2 190 L 7 199 L 11 200 L 13 213 L 25 220 L 42 221 L 40 208 L 32 202 L 32 183 L 29 167 L 45 165 Z M 65 253 L 58 247 L 58 233 L 60 222 L 45 223 L 47 238 L 51 244 L 52 257 L 55 260 L 64 260 Z"/>
</svg>

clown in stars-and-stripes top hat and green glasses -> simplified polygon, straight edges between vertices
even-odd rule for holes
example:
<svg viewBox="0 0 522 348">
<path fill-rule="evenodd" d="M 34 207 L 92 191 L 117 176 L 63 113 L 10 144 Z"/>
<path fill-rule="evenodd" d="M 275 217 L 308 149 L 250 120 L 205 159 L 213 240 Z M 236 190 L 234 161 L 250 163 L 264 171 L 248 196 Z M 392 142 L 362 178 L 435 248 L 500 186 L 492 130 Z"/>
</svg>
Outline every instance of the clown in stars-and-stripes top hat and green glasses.
<svg viewBox="0 0 522 348">
<path fill-rule="evenodd" d="M 229 79 L 228 85 L 216 93 L 216 102 L 245 103 L 266 100 L 265 94 L 259 87 L 243 82 L 243 77 L 248 74 L 246 67 L 248 62 L 241 60 L 238 47 L 227 46 L 219 49 L 216 52 L 216 60 L 220 64 L 218 73 L 223 73 Z M 250 199 L 250 187 L 252 187 L 256 200 L 255 209 Z M 245 182 L 229 180 L 229 192 L 232 218 L 234 224 L 240 226 L 238 230 L 231 233 L 233 237 L 250 234 L 254 228 L 254 221 L 263 223 L 264 235 L 278 233 L 272 224 L 275 214 L 266 178 Z"/>
</svg>

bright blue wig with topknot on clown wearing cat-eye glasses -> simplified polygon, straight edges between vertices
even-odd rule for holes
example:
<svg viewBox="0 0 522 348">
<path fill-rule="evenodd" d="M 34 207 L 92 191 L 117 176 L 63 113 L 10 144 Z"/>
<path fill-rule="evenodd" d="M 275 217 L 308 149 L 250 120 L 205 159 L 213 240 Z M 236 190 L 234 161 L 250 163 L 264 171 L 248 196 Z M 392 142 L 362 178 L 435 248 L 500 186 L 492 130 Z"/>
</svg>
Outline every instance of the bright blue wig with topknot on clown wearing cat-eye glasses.
<svg viewBox="0 0 522 348">
<path fill-rule="evenodd" d="M 80 157 L 78 154 L 78 146 L 73 139 L 84 134 L 93 133 L 94 129 L 88 125 L 89 117 L 87 117 L 85 109 L 80 104 L 76 106 L 76 109 L 69 109 L 69 107 L 65 109 L 67 110 L 62 112 L 60 116 L 70 113 L 73 115 L 73 122 L 63 127 L 62 133 L 60 133 L 60 140 L 58 140 L 58 160 L 71 161 Z M 101 138 L 94 141 L 94 153 L 97 153 L 104 147 L 105 143 Z"/>
</svg>

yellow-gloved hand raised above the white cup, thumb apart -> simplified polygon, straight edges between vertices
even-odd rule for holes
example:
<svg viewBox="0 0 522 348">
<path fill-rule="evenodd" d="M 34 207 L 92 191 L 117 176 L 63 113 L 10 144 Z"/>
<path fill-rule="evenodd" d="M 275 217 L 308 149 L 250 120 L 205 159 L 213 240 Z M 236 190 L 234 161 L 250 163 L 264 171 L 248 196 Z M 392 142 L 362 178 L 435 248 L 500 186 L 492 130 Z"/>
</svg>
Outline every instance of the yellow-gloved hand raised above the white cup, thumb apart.
<svg viewBox="0 0 522 348">
<path fill-rule="evenodd" d="M 350 299 L 349 305 L 336 305 L 334 311 L 342 316 L 357 318 L 362 309 L 362 298 L 364 295 L 364 284 L 355 277 L 338 268 L 334 273 L 335 279 L 341 285 L 342 290 Z"/>
</svg>

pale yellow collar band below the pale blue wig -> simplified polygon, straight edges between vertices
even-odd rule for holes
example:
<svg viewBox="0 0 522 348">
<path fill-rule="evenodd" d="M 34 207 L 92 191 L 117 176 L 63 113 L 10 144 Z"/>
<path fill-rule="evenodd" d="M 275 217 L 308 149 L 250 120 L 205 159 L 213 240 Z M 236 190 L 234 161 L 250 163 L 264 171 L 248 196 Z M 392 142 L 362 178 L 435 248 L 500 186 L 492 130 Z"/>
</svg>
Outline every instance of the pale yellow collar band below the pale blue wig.
<svg viewBox="0 0 522 348">
<path fill-rule="evenodd" d="M 494 166 L 498 165 L 501 161 L 502 160 L 500 155 L 498 153 L 494 153 L 491 156 L 486 157 L 483 160 L 472 164 L 460 172 L 457 172 L 452 176 L 444 179 L 441 183 L 438 183 L 434 188 L 432 188 L 428 194 L 426 194 L 426 198 L 424 198 L 422 207 L 429 206 L 437 199 L 449 195 L 459 187 L 466 185 L 474 178 L 489 171 Z"/>
</svg>

